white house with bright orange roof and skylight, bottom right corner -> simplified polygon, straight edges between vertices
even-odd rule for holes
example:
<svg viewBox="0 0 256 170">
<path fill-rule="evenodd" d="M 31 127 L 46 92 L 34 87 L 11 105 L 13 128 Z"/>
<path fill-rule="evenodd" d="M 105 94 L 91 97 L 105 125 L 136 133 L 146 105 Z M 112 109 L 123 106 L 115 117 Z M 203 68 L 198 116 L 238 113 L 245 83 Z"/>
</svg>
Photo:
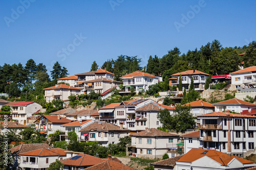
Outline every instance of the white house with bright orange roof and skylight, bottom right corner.
<svg viewBox="0 0 256 170">
<path fill-rule="evenodd" d="M 191 149 L 175 165 L 176 170 L 183 169 L 244 169 L 255 166 L 252 161 L 228 155 L 215 150 Z"/>
</svg>

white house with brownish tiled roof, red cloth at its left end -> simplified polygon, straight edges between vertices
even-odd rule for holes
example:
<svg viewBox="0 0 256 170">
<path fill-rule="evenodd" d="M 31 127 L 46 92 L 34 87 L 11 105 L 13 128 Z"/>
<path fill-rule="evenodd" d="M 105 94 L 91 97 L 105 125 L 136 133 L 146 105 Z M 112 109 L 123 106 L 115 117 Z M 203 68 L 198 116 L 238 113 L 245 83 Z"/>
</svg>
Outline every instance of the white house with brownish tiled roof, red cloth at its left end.
<svg viewBox="0 0 256 170">
<path fill-rule="evenodd" d="M 98 141 L 104 147 L 108 147 L 109 143 L 118 143 L 119 138 L 130 135 L 129 129 L 108 122 L 92 123 L 79 132 L 81 132 L 80 141 Z"/>
</svg>

